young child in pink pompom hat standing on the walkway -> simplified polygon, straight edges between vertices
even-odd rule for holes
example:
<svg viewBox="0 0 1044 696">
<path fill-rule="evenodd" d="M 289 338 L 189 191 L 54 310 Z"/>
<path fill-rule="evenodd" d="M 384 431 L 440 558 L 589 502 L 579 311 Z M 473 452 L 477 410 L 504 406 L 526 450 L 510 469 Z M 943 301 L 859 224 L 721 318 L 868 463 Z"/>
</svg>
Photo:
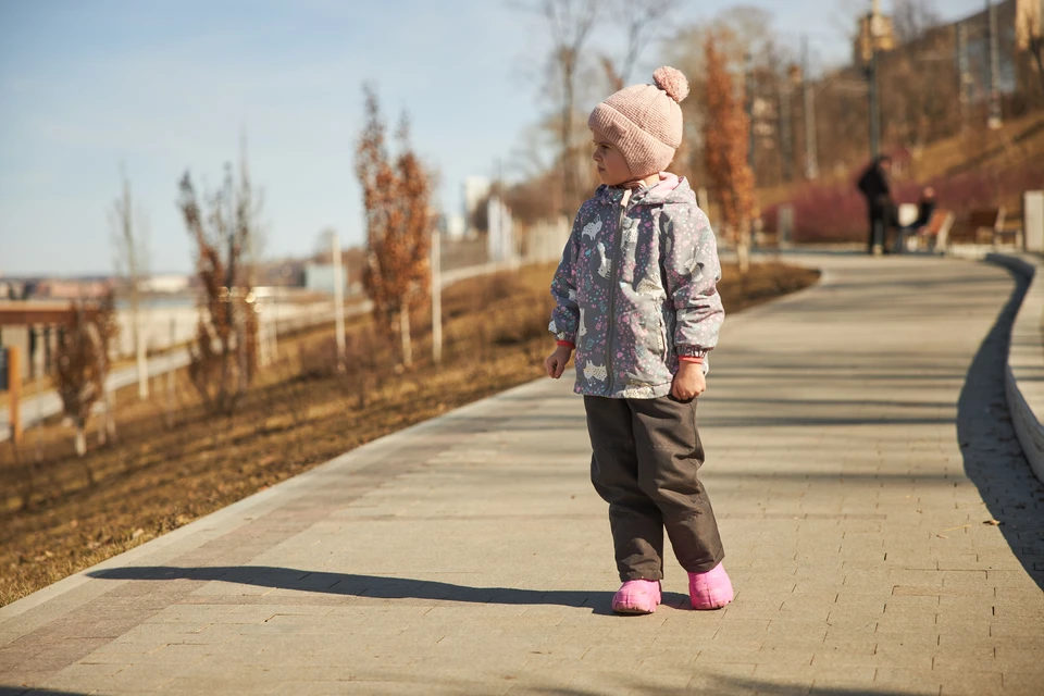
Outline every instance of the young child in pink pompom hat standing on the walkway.
<svg viewBox="0 0 1044 696">
<path fill-rule="evenodd" d="M 673 67 L 598 104 L 587 121 L 602 186 L 580 208 L 551 283 L 545 361 L 562 376 L 576 350 L 594 455 L 591 478 L 609 504 L 621 613 L 660 604 L 663 529 L 695 609 L 733 599 L 707 493 L 696 401 L 724 318 L 717 243 L 684 178 L 663 173 L 682 141 L 688 83 Z"/>
</svg>

